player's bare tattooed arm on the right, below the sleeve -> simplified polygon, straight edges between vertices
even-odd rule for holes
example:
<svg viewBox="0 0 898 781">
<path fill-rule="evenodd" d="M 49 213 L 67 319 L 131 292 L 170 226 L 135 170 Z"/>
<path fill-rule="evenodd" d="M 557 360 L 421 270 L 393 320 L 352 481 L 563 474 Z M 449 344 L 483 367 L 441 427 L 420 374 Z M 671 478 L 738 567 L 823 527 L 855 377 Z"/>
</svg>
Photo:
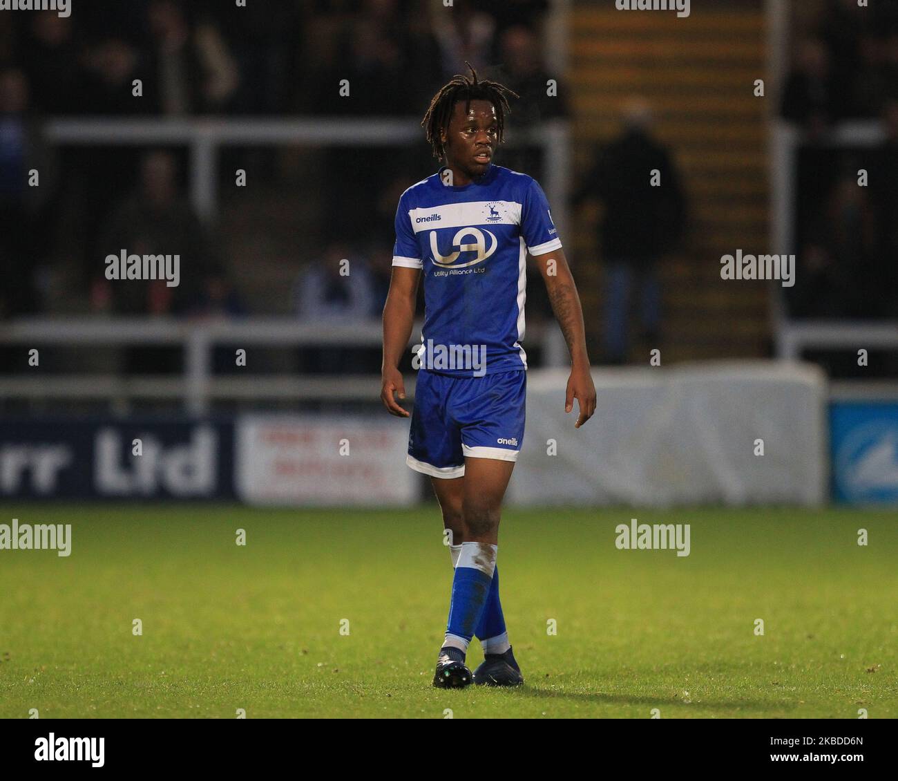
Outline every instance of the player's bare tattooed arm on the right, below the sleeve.
<svg viewBox="0 0 898 781">
<path fill-rule="evenodd" d="M 542 279 L 549 291 L 552 312 L 564 333 L 570 352 L 570 377 L 565 398 L 565 412 L 574 408 L 574 399 L 580 414 L 575 428 L 579 429 L 595 412 L 595 386 L 589 370 L 589 356 L 586 353 L 586 334 L 583 324 L 583 307 L 577 295 L 577 285 L 568 267 L 568 259 L 561 249 L 534 255 L 533 260 L 540 268 Z"/>
</svg>

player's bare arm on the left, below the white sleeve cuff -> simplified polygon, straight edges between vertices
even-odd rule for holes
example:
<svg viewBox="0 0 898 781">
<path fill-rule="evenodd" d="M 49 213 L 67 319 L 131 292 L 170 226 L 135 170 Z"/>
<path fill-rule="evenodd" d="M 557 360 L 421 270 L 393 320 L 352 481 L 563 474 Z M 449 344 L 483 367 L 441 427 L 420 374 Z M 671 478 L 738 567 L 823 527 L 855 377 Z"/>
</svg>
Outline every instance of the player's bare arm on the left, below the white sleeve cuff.
<svg viewBox="0 0 898 781">
<path fill-rule="evenodd" d="M 415 304 L 418 301 L 420 269 L 393 266 L 390 292 L 383 306 L 383 364 L 381 366 L 381 401 L 390 414 L 400 418 L 409 413 L 396 403 L 395 396 L 405 398 L 405 385 L 399 363 L 409 345 L 415 324 Z"/>
</svg>

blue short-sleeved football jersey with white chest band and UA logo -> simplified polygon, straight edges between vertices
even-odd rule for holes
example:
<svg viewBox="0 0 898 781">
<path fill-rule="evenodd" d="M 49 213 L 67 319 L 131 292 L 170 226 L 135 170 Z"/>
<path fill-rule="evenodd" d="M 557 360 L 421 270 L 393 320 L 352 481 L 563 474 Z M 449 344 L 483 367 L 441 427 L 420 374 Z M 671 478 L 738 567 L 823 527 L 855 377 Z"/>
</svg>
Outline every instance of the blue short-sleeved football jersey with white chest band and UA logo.
<svg viewBox="0 0 898 781">
<path fill-rule="evenodd" d="M 445 166 L 402 193 L 394 266 L 424 271 L 420 368 L 480 377 L 527 368 L 527 253 L 561 246 L 539 183 L 490 164 L 475 182 L 447 186 Z"/>
</svg>

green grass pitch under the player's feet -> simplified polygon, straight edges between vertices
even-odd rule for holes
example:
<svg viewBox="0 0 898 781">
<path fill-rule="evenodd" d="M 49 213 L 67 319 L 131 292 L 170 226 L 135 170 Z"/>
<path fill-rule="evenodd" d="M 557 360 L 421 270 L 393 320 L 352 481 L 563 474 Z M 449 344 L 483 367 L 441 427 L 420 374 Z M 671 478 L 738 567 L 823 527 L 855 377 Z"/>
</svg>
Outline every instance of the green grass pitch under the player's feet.
<svg viewBox="0 0 898 781">
<path fill-rule="evenodd" d="M 0 507 L 73 525 L 68 558 L 0 551 L 0 717 L 898 716 L 894 511 L 506 510 L 526 684 L 445 691 L 436 505 Z M 631 518 L 691 524 L 691 555 L 618 550 Z"/>
</svg>

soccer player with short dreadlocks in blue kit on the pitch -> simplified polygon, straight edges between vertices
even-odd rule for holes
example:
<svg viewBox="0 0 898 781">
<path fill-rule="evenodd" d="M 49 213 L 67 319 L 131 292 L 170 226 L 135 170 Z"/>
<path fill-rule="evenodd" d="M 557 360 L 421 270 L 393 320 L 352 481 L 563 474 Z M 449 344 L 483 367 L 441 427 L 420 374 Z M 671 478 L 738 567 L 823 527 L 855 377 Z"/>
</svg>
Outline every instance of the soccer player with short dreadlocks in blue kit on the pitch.
<svg viewBox="0 0 898 781">
<path fill-rule="evenodd" d="M 508 642 L 496 567 L 502 499 L 524 441 L 526 256 L 540 267 L 571 357 L 565 412 L 576 428 L 595 411 L 577 287 L 530 176 L 493 163 L 509 111 L 502 84 L 455 75 L 421 124 L 437 173 L 402 193 L 390 292 L 383 308 L 381 399 L 409 417 L 399 370 L 424 276 L 424 328 L 406 462 L 431 477 L 450 531 L 454 575 L 434 685 L 516 686 L 524 677 Z M 471 674 L 471 637 L 485 659 Z"/>
</svg>

